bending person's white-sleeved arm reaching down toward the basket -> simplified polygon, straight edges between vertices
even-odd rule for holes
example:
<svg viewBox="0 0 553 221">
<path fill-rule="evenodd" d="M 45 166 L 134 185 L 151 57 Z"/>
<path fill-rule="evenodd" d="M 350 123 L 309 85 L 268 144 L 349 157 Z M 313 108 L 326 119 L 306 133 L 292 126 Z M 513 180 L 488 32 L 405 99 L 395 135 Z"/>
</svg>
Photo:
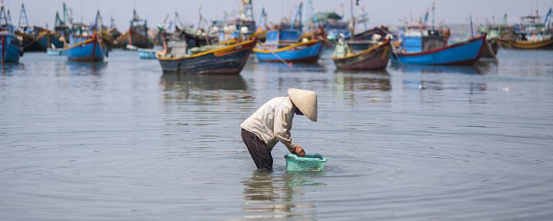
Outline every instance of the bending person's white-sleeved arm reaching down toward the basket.
<svg viewBox="0 0 553 221">
<path fill-rule="evenodd" d="M 282 107 L 274 114 L 274 137 L 276 137 L 279 142 L 284 144 L 290 153 L 292 153 L 296 148 L 296 144 L 292 142 L 292 137 L 290 137 L 290 129 L 292 128 L 293 118 L 294 108 Z"/>
</svg>

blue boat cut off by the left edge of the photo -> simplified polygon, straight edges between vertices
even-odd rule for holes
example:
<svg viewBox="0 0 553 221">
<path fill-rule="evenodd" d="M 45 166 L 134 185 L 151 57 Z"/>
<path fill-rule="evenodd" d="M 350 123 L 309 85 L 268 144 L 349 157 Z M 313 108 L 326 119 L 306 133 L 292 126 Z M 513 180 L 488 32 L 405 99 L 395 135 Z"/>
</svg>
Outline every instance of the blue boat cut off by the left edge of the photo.
<svg viewBox="0 0 553 221">
<path fill-rule="evenodd" d="M 19 62 L 19 56 L 23 55 L 21 39 L 15 34 L 9 13 L 6 14 L 3 4 L 0 8 L 0 61 Z"/>
</svg>

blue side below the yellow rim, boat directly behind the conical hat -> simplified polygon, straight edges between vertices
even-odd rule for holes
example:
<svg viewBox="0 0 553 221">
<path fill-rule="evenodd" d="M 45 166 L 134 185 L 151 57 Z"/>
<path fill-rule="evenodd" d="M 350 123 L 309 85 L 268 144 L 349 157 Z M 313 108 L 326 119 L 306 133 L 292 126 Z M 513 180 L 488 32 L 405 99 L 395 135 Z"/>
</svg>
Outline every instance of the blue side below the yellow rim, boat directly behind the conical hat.
<svg viewBox="0 0 553 221">
<path fill-rule="evenodd" d="M 318 42 L 312 46 L 299 46 L 281 52 L 255 52 L 255 55 L 259 61 L 280 62 L 283 59 L 286 62 L 317 62 L 321 48 L 322 42 Z"/>
</svg>

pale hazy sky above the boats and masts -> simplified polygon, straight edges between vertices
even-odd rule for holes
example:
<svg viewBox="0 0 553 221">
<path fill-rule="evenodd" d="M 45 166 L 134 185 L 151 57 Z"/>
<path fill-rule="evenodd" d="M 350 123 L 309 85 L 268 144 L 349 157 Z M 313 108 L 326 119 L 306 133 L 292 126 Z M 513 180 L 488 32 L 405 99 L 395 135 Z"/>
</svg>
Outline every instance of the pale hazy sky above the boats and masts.
<svg viewBox="0 0 553 221">
<path fill-rule="evenodd" d="M 355 0 L 353 0 L 355 3 Z M 55 12 L 62 11 L 63 0 L 4 0 L 6 8 L 10 9 L 12 22 L 17 25 L 21 3 L 25 3 L 28 20 L 31 24 L 52 28 L 55 20 Z M 149 26 L 162 23 L 167 13 L 177 11 L 180 19 L 186 23 L 198 23 L 198 8 L 202 5 L 202 14 L 209 21 L 223 19 L 224 12 L 237 11 L 241 5 L 239 0 L 65 0 L 67 6 L 73 9 L 74 21 L 85 22 L 93 20 L 96 10 L 100 10 L 104 17 L 104 24 L 109 24 L 109 17 L 113 16 L 115 24 L 120 30 L 129 27 L 133 7 L 138 14 L 148 19 Z M 280 21 L 282 17 L 291 17 L 294 6 L 299 0 L 253 0 L 254 19 L 259 19 L 261 8 L 265 8 L 270 21 Z M 304 4 L 307 1 L 303 1 Z M 315 11 L 335 11 L 341 14 L 341 4 L 344 5 L 346 17 L 350 16 L 350 0 L 312 0 Z M 435 20 L 444 23 L 467 23 L 469 14 L 473 16 L 475 23 L 491 21 L 500 22 L 503 14 L 508 15 L 509 23 L 516 23 L 523 15 L 539 10 L 540 15 L 545 15 L 553 5 L 553 0 L 386 0 L 367 1 L 360 0 L 356 10 L 364 6 L 370 17 L 369 26 L 398 24 L 402 18 L 420 17 L 432 2 L 436 4 Z M 303 16 L 308 15 L 306 6 L 303 7 Z M 533 9 L 533 11 L 532 11 Z"/>
</svg>

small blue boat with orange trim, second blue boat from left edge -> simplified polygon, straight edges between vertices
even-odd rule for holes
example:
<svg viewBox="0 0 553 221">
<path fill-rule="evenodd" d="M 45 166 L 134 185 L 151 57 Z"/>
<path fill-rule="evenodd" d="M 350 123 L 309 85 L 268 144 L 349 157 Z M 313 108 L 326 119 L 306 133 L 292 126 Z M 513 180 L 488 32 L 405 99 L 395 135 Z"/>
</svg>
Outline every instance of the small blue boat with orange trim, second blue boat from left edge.
<svg viewBox="0 0 553 221">
<path fill-rule="evenodd" d="M 103 61 L 108 48 L 95 32 L 91 36 L 71 35 L 64 51 L 69 61 Z"/>
</svg>

